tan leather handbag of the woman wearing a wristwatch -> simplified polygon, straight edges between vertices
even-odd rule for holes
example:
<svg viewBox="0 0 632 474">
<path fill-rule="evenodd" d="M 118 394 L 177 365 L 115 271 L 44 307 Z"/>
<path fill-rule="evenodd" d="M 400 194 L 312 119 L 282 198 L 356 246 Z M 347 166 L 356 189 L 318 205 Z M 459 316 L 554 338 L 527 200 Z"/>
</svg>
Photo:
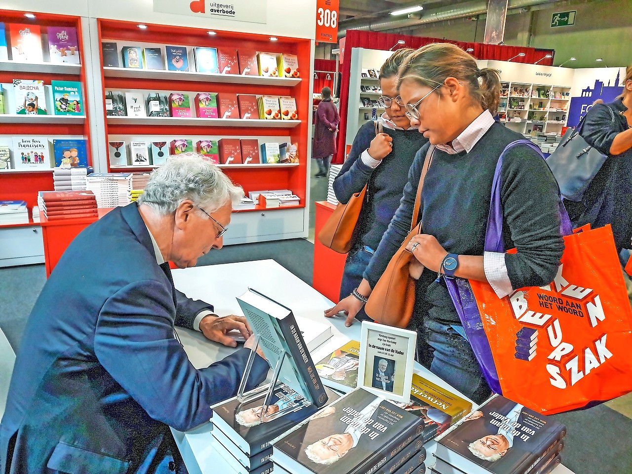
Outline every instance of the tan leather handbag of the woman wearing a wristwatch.
<svg viewBox="0 0 632 474">
<path fill-rule="evenodd" d="M 422 232 L 422 222 L 419 221 L 419 207 L 421 205 L 423 179 L 428 172 L 434 147 L 431 146 L 423 162 L 422 176 L 419 178 L 415 207 L 410 223 L 410 233 L 404 239 L 389 262 L 386 270 L 375 284 L 375 288 L 368 297 L 364 307 L 367 315 L 379 322 L 395 327 L 406 327 L 415 308 L 415 279 L 410 276 L 408 265 L 413 254 L 406 250 L 411 238 Z"/>
</svg>

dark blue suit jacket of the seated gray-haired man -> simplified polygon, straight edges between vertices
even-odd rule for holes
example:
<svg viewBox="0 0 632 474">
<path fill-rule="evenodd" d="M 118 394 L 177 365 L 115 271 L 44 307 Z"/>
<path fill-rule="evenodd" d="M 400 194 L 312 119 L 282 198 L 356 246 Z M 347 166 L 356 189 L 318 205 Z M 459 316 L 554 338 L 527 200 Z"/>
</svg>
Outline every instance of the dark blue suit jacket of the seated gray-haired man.
<svg viewBox="0 0 632 474">
<path fill-rule="evenodd" d="M 137 204 L 85 229 L 28 319 L 0 423 L 0 473 L 151 471 L 168 426 L 207 422 L 243 374 L 248 349 L 196 370 L 174 339 L 174 324 L 191 328 L 208 307 L 174 290 Z M 267 368 L 257 356 L 256 382 Z"/>
</svg>

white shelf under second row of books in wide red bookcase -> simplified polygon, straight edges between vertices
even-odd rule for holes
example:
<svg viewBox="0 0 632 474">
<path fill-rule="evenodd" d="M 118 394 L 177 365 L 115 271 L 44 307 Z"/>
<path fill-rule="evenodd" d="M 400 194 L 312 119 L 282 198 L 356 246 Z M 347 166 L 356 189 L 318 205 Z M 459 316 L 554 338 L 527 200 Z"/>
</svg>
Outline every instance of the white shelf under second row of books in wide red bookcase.
<svg viewBox="0 0 632 474">
<path fill-rule="evenodd" d="M 211 119 L 200 117 L 107 117 L 109 125 L 193 125 L 243 128 L 294 128 L 300 120 Z"/>
</svg>

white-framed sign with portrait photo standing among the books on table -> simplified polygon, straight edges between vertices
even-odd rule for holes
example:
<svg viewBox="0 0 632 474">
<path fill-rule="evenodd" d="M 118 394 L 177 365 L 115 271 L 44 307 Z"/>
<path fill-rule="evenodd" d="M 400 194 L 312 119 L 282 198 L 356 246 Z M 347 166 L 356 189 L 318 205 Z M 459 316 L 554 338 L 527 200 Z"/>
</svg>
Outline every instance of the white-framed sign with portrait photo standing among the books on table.
<svg viewBox="0 0 632 474">
<path fill-rule="evenodd" d="M 416 341 L 415 331 L 363 321 L 358 387 L 384 399 L 408 403 Z"/>
</svg>

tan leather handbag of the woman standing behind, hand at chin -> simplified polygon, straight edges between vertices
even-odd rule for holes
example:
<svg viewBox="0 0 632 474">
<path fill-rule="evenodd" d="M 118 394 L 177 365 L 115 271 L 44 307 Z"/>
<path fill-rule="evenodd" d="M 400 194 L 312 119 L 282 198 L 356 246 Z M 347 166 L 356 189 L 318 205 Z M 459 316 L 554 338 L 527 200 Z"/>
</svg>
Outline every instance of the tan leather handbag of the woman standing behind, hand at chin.
<svg viewBox="0 0 632 474">
<path fill-rule="evenodd" d="M 382 124 L 375 122 L 375 135 L 382 132 Z M 353 193 L 347 204 L 339 203 L 318 233 L 318 240 L 334 252 L 348 253 L 355 243 L 358 233 L 358 219 L 367 194 L 367 186 Z"/>
</svg>

